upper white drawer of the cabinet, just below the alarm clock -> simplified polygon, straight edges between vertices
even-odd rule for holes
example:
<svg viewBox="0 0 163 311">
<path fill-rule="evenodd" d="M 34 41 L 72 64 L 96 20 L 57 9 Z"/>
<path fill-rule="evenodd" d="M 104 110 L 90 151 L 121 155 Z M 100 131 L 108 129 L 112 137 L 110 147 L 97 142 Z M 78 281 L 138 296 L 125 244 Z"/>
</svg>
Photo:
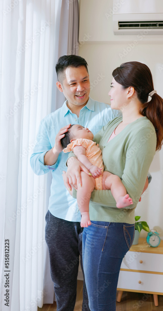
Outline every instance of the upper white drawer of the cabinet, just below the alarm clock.
<svg viewBox="0 0 163 311">
<path fill-rule="evenodd" d="M 129 251 L 122 260 L 121 268 L 163 272 L 163 254 Z"/>
</svg>

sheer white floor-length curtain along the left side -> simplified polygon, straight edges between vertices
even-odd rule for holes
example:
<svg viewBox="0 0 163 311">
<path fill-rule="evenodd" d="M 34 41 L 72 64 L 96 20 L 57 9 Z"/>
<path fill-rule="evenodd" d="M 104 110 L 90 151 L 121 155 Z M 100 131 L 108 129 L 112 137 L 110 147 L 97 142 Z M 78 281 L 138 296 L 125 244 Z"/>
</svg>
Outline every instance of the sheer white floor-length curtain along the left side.
<svg viewBox="0 0 163 311">
<path fill-rule="evenodd" d="M 43 279 L 45 271 L 49 275 L 44 231 L 50 175 L 34 175 L 29 158 L 41 119 L 56 109 L 57 21 L 62 6 L 70 12 L 75 4 L 72 0 L 0 2 L 2 311 L 37 311 L 49 294 Z"/>
</svg>

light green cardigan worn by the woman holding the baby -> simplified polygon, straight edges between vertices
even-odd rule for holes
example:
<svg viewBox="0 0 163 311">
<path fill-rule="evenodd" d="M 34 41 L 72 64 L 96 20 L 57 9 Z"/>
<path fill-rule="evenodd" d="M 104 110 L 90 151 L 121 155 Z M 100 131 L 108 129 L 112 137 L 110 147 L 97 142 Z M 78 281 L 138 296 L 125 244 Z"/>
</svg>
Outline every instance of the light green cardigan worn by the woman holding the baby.
<svg viewBox="0 0 163 311">
<path fill-rule="evenodd" d="M 110 121 L 94 136 L 94 141 L 102 150 L 104 170 L 120 177 L 133 204 L 117 208 L 110 190 L 94 190 L 90 199 L 89 214 L 92 221 L 134 224 L 134 210 L 156 152 L 157 137 L 153 124 L 147 117 L 142 117 L 128 124 L 108 142 L 120 122 L 122 117 Z M 73 191 L 73 197 L 76 197 L 76 191 Z"/>
</svg>

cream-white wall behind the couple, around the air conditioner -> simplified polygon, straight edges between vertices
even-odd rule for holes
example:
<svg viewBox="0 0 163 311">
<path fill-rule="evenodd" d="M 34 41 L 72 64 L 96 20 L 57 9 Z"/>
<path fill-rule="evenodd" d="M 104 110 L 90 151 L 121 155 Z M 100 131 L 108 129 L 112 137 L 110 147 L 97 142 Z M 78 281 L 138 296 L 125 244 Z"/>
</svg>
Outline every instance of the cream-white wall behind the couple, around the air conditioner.
<svg viewBox="0 0 163 311">
<path fill-rule="evenodd" d="M 163 97 L 163 36 L 142 34 L 142 39 L 137 35 L 115 36 L 112 16 L 107 18 L 105 15 L 111 12 L 111 8 L 111 0 L 80 0 L 79 55 L 88 62 L 90 82 L 93 83 L 90 96 L 110 103 L 108 91 L 113 69 L 127 61 L 139 61 L 151 69 L 154 88 Z M 135 39 L 137 44 L 133 45 Z M 98 82 L 99 76 L 102 78 Z M 157 229 L 163 239 L 163 149 L 155 155 L 150 173 L 152 182 L 138 204 L 135 215 L 147 221 L 150 229 Z M 142 230 L 141 237 L 146 235 Z"/>
</svg>

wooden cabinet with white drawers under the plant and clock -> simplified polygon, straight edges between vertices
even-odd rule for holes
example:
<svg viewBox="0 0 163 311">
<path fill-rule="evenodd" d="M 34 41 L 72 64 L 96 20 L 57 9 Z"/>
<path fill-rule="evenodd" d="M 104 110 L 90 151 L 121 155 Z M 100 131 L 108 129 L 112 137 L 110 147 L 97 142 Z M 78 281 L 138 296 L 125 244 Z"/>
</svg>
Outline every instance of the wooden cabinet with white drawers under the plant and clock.
<svg viewBox="0 0 163 311">
<path fill-rule="evenodd" d="M 156 248 L 141 238 L 131 246 L 121 264 L 117 290 L 118 302 L 123 291 L 132 291 L 153 294 L 158 306 L 158 295 L 163 295 L 163 240 Z"/>
</svg>

